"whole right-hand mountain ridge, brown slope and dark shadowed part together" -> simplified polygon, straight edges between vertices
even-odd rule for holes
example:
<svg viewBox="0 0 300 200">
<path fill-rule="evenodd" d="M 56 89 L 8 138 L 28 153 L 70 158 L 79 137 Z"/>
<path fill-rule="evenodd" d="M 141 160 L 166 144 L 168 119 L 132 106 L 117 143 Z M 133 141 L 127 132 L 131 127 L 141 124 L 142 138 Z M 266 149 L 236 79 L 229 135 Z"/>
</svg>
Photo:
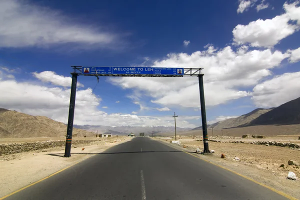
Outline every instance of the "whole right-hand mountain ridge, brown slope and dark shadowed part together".
<svg viewBox="0 0 300 200">
<path fill-rule="evenodd" d="M 213 129 L 245 127 L 252 125 L 284 125 L 300 123 L 300 97 L 288 101 L 278 107 L 268 109 L 257 108 L 253 111 L 235 118 L 229 118 L 218 121 L 213 124 L 207 124 L 207 128 Z M 192 130 L 202 129 L 202 126 Z"/>
</svg>

